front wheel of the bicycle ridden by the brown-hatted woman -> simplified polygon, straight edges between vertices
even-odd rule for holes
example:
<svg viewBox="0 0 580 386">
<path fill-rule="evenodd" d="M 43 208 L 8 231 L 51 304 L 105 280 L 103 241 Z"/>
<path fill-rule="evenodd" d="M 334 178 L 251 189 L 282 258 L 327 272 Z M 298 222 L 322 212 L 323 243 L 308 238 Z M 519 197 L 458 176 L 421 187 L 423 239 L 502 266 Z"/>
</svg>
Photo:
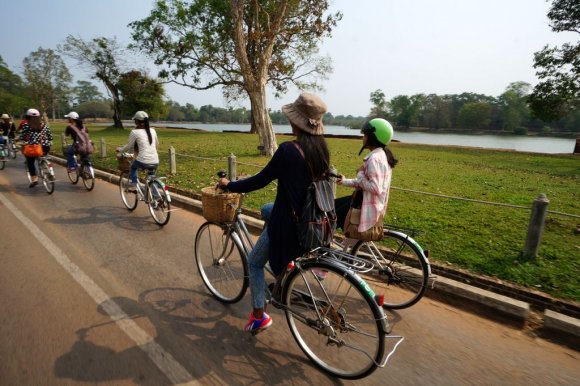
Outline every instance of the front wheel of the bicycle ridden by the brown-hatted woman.
<svg viewBox="0 0 580 386">
<path fill-rule="evenodd" d="M 209 292 L 222 303 L 236 303 L 248 289 L 245 253 L 228 229 L 218 223 L 204 223 L 195 235 L 196 266 Z"/>
</svg>

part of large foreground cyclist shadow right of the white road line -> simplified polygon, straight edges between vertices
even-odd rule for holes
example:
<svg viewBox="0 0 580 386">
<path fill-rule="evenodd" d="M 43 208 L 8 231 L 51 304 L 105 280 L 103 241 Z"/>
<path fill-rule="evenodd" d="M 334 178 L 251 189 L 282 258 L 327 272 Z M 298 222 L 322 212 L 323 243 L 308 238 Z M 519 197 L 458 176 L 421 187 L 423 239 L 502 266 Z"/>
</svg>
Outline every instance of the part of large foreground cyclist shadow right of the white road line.
<svg viewBox="0 0 580 386">
<path fill-rule="evenodd" d="M 238 314 L 240 305 L 222 304 L 205 291 L 183 288 L 151 289 L 141 293 L 139 302 L 148 307 L 160 344 L 164 338 L 161 332 L 170 331 L 168 338 L 185 339 L 191 350 L 211 353 L 210 366 L 216 367 L 216 373 L 227 384 L 311 383 L 304 374 L 304 367 L 311 366 L 305 356 L 278 350 L 242 330 L 245 311 L 234 325 L 225 321 L 226 316 Z M 191 352 L 181 363 L 187 361 L 191 361 Z M 325 383 L 341 384 L 320 374 Z"/>
</svg>

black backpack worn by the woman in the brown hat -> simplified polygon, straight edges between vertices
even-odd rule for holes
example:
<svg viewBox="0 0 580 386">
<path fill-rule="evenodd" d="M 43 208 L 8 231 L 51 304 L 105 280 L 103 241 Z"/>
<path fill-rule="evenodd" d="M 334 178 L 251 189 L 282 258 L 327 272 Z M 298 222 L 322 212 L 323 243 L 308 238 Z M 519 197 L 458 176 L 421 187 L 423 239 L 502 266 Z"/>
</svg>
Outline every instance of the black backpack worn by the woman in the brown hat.
<svg viewBox="0 0 580 386">
<path fill-rule="evenodd" d="M 304 152 L 293 142 L 302 157 Z M 306 159 L 306 158 L 304 158 Z M 312 168 L 308 165 L 312 174 Z M 298 234 L 298 243 L 302 248 L 315 249 L 329 246 L 336 229 L 336 211 L 334 209 L 334 192 L 328 177 L 312 179 L 306 191 L 306 200 L 300 216 L 294 214 Z"/>
</svg>

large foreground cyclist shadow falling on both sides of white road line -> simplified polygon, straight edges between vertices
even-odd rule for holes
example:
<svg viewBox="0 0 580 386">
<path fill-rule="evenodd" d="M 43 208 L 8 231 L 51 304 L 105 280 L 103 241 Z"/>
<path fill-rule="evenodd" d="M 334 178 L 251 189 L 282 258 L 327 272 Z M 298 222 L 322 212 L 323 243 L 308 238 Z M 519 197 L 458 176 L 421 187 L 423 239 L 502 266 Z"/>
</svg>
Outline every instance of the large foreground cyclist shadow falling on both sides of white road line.
<svg viewBox="0 0 580 386">
<path fill-rule="evenodd" d="M 155 342 L 194 378 L 213 373 L 220 382 L 232 385 L 312 383 L 304 374 L 304 366 L 311 366 L 305 356 L 264 346 L 241 330 L 241 321 L 229 324 L 226 317 L 236 312 L 205 293 L 155 288 L 142 292 L 138 301 L 126 297 L 108 301 L 115 302 L 129 318 L 143 318 L 150 323 L 156 331 L 151 334 Z M 99 305 L 97 310 L 109 317 L 104 306 Z M 111 327 L 116 328 L 107 319 L 77 331 L 77 341 L 55 361 L 55 375 L 83 382 L 131 379 L 143 385 L 170 384 L 138 346 L 115 351 L 99 344 L 98 336 L 106 337 L 106 331 L 97 331 Z M 320 374 L 324 383 L 342 384 Z M 160 383 L 160 379 L 166 383 Z"/>
</svg>

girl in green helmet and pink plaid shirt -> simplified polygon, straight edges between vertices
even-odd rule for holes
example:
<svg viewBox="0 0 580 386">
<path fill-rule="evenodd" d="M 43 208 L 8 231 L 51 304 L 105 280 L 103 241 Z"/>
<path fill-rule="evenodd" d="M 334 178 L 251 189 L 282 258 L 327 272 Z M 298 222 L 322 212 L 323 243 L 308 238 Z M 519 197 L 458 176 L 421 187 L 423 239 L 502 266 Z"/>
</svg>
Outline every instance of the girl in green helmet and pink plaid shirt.
<svg viewBox="0 0 580 386">
<path fill-rule="evenodd" d="M 355 178 L 346 179 L 341 175 L 337 180 L 339 185 L 355 188 L 357 194 L 337 198 L 335 209 L 337 227 L 344 228 L 349 208 L 351 206 L 360 208 L 358 231 L 364 232 L 375 225 L 381 213 L 387 209 L 393 168 L 398 160 L 387 147 L 393 137 L 393 127 L 387 120 L 371 119 L 363 125 L 361 133 L 363 143 L 358 154 L 360 155 L 364 149 L 370 150 L 370 153 L 364 157 Z"/>
</svg>

